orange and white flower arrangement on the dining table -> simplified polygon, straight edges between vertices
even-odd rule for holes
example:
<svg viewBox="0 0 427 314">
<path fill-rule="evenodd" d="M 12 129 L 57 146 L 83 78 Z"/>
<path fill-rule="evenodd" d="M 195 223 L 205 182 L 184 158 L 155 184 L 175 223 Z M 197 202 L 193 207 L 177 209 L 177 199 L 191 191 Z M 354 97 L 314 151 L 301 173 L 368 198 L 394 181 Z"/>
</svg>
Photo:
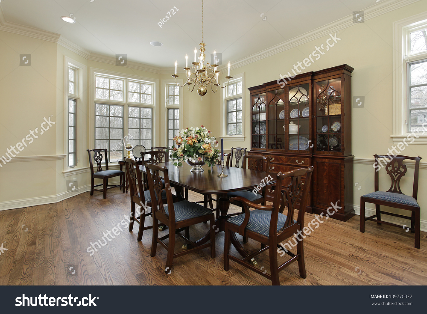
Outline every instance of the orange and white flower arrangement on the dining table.
<svg viewBox="0 0 427 314">
<path fill-rule="evenodd" d="M 203 125 L 181 130 L 179 135 L 173 138 L 174 145 L 168 149 L 170 156 L 175 160 L 174 166 L 182 166 L 182 161 L 203 162 L 208 166 L 216 164 L 221 158 L 219 150 L 214 146 L 218 144 L 215 136 L 211 136 L 211 130 Z"/>
</svg>

